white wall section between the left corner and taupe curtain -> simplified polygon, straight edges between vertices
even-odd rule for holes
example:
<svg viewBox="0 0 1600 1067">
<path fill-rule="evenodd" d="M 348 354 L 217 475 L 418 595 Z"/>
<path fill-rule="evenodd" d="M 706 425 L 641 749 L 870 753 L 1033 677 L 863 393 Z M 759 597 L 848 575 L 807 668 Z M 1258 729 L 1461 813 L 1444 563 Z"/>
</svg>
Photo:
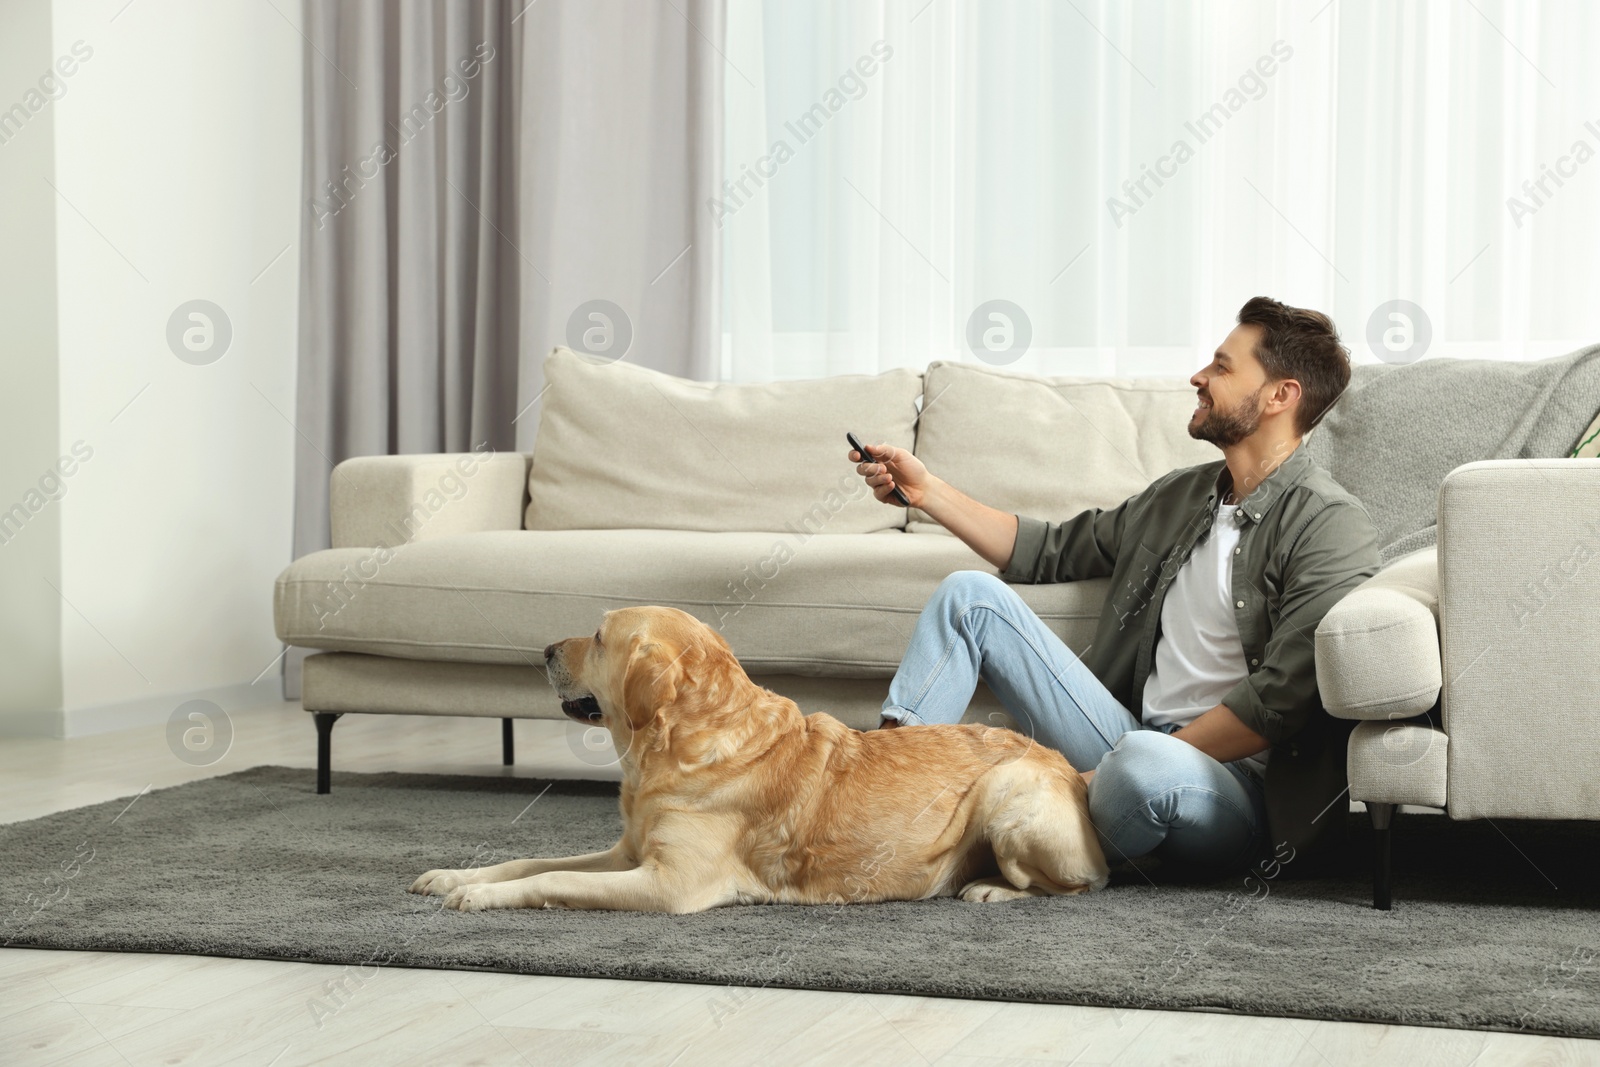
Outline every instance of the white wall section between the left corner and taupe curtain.
<svg viewBox="0 0 1600 1067">
<path fill-rule="evenodd" d="M 93 450 L 58 504 L 67 734 L 278 691 L 266 669 L 293 509 L 298 18 L 293 3 L 53 3 L 54 56 L 90 53 L 51 106 L 58 443 Z M 190 299 L 232 323 L 203 366 L 166 341 Z"/>
</svg>

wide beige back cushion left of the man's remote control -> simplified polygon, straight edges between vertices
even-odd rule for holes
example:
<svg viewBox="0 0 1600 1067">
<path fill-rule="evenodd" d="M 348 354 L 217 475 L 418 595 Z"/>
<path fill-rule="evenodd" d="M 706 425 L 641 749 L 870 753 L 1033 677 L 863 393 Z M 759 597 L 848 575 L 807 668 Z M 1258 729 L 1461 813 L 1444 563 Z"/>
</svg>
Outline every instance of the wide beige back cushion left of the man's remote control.
<svg viewBox="0 0 1600 1067">
<path fill-rule="evenodd" d="M 528 474 L 528 530 L 906 526 L 846 459 L 845 430 L 912 446 L 922 374 L 696 382 L 558 347 Z"/>
</svg>

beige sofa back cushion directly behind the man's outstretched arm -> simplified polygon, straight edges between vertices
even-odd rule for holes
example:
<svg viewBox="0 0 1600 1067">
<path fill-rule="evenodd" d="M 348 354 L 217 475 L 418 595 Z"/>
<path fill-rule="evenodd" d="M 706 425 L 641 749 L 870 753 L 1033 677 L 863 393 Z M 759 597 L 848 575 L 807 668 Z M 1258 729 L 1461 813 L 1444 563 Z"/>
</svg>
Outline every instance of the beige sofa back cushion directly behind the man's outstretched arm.
<svg viewBox="0 0 1600 1067">
<path fill-rule="evenodd" d="M 917 458 L 1003 512 L 1050 522 L 1112 507 L 1218 450 L 1189 437 L 1195 390 L 1176 378 L 1040 378 L 936 360 Z M 910 509 L 912 533 L 949 533 Z"/>
</svg>

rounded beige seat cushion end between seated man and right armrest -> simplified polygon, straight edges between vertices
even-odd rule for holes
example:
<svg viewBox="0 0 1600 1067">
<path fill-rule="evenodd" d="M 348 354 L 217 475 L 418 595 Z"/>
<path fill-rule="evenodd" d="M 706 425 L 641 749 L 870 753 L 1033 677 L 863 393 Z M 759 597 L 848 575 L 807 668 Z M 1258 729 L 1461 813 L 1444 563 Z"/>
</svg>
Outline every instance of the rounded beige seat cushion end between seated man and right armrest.
<svg viewBox="0 0 1600 1067">
<path fill-rule="evenodd" d="M 1317 689 L 1330 715 L 1422 715 L 1438 699 L 1442 681 L 1432 547 L 1368 577 L 1317 625 Z"/>
</svg>

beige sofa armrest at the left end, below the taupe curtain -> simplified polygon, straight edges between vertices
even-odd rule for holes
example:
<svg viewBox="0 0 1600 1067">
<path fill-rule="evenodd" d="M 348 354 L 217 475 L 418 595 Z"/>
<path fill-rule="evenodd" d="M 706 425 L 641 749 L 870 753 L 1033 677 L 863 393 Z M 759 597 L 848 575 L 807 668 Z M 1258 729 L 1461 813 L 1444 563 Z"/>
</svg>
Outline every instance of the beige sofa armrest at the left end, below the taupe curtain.
<svg viewBox="0 0 1600 1067">
<path fill-rule="evenodd" d="M 526 496 L 523 453 L 357 456 L 333 469 L 333 547 L 398 547 L 482 530 L 522 530 Z"/>
</svg>

